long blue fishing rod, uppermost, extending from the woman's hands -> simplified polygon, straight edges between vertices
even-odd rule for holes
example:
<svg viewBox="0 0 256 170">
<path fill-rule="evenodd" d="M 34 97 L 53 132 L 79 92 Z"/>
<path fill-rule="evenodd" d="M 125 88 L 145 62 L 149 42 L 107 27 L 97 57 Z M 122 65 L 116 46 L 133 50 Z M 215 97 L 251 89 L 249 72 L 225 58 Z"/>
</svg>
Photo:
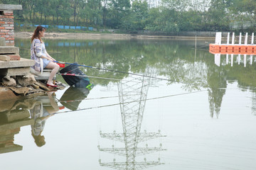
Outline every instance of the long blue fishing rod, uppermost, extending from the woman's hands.
<svg viewBox="0 0 256 170">
<path fill-rule="evenodd" d="M 102 69 L 102 70 L 109 71 L 109 72 L 132 74 L 132 75 L 135 75 L 135 76 L 148 77 L 148 78 L 151 78 L 151 79 L 160 79 L 160 80 L 165 80 L 165 81 L 173 81 L 173 82 L 183 83 L 183 82 L 174 81 L 174 80 L 171 80 L 171 79 L 164 79 L 164 78 L 160 78 L 160 77 L 151 77 L 151 76 L 147 76 L 147 75 L 144 75 L 144 74 L 136 74 L 136 73 L 131 73 L 131 72 L 121 72 L 121 71 L 114 70 L 114 69 L 104 69 L 104 68 L 100 68 L 100 67 L 92 67 L 92 66 L 87 66 L 87 65 L 83 65 L 83 64 L 75 64 L 75 63 L 69 63 L 69 62 L 59 62 L 59 61 L 54 61 L 54 62 L 57 62 L 57 63 L 60 63 L 60 64 L 70 64 L 70 65 L 75 65 L 75 66 L 80 66 L 80 67 L 87 67 L 87 68 L 91 68 L 91 69 Z M 183 84 L 187 84 L 187 83 L 183 83 Z M 195 84 L 192 84 L 192 85 L 195 85 Z"/>
</svg>

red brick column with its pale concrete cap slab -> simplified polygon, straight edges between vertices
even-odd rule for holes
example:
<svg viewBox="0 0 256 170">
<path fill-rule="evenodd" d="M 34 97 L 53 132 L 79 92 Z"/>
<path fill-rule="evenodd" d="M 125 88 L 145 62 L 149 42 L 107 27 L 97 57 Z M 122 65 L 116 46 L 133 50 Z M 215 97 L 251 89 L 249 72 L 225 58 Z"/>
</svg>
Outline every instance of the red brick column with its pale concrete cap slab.
<svg viewBox="0 0 256 170">
<path fill-rule="evenodd" d="M 0 37 L 8 46 L 14 46 L 14 10 L 21 9 L 21 5 L 0 4 Z"/>
</svg>

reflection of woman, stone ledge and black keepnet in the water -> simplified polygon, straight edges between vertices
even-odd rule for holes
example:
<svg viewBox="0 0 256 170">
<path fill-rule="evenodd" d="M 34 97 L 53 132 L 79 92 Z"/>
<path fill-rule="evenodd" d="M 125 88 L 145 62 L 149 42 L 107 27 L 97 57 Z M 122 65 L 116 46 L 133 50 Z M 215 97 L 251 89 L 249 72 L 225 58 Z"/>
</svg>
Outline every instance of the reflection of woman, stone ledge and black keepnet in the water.
<svg viewBox="0 0 256 170">
<path fill-rule="evenodd" d="M 22 146 L 14 144 L 14 135 L 26 125 L 31 125 L 31 135 L 36 145 L 38 147 L 46 145 L 45 137 L 42 135 L 46 120 L 63 108 L 77 110 L 80 102 L 87 97 L 89 92 L 86 88 L 70 86 L 60 101 L 56 98 L 54 91 L 35 98 L 1 101 L 0 154 L 22 150 Z"/>
</svg>

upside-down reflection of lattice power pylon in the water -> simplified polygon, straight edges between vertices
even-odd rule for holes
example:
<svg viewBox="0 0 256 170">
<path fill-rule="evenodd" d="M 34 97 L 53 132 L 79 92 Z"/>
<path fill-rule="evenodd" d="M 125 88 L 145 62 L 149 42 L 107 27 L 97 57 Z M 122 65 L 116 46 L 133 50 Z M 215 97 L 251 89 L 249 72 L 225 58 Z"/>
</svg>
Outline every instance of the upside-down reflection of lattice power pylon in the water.
<svg viewBox="0 0 256 170">
<path fill-rule="evenodd" d="M 139 142 L 163 137 L 160 132 L 140 132 L 146 95 L 149 89 L 150 79 L 146 77 L 131 77 L 130 81 L 118 84 L 120 109 L 122 113 L 122 133 L 100 133 L 101 137 L 110 140 L 124 142 L 124 148 L 100 148 L 100 151 L 119 154 L 126 157 L 126 162 L 102 163 L 101 166 L 108 166 L 114 169 L 145 169 L 150 166 L 162 164 L 160 160 L 155 162 L 137 162 L 139 155 L 159 152 L 165 149 L 160 147 L 138 147 Z"/>
</svg>

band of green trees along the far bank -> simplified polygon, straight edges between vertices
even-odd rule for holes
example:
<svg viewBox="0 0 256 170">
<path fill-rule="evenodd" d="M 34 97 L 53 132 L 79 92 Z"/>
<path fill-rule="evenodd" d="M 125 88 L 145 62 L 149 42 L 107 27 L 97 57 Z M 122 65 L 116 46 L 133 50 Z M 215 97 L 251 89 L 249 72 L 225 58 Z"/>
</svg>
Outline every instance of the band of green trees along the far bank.
<svg viewBox="0 0 256 170">
<path fill-rule="evenodd" d="M 152 1 L 152 0 L 151 0 Z M 156 1 L 156 0 L 155 0 Z M 92 26 L 136 32 L 254 30 L 253 0 L 0 0 L 21 4 L 15 22 L 67 26 Z"/>
</svg>

